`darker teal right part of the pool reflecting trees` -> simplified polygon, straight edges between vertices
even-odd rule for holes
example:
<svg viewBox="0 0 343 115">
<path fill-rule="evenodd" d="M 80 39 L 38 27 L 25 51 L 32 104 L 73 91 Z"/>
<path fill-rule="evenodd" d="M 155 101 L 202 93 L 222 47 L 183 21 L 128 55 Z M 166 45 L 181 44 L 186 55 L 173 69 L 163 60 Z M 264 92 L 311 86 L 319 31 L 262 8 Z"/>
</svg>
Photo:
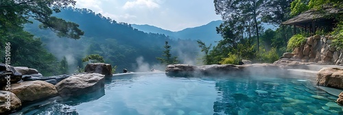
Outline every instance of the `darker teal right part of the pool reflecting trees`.
<svg viewBox="0 0 343 115">
<path fill-rule="evenodd" d="M 263 77 L 259 77 L 263 78 Z M 229 78 L 215 83 L 217 114 L 343 114 L 334 97 L 306 79 Z"/>
</svg>

